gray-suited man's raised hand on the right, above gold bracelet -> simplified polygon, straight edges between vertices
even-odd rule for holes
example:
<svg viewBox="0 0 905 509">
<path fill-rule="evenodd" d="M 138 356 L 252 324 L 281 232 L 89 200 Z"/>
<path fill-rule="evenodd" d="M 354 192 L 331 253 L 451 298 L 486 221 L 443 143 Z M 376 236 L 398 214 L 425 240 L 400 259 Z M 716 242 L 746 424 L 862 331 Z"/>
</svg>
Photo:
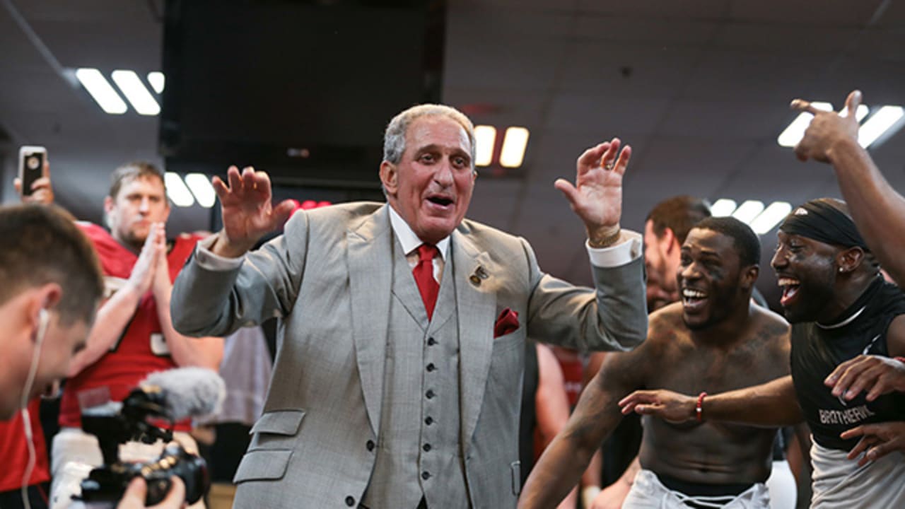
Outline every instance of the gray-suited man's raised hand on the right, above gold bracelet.
<svg viewBox="0 0 905 509">
<path fill-rule="evenodd" d="M 614 138 L 585 153 L 576 162 L 575 185 L 565 178 L 554 183 L 569 201 L 569 206 L 585 223 L 592 247 L 605 247 L 618 239 L 622 217 L 622 181 L 632 157 L 626 145 Z"/>
</svg>

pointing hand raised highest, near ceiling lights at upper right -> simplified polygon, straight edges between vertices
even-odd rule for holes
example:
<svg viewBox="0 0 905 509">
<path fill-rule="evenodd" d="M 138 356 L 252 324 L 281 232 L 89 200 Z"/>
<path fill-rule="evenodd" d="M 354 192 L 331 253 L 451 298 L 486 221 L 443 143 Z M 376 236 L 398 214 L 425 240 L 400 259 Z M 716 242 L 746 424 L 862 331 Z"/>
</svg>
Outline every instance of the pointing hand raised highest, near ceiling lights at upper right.
<svg viewBox="0 0 905 509">
<path fill-rule="evenodd" d="M 855 112 L 861 105 L 861 91 L 852 91 L 845 100 L 846 113 L 817 110 L 810 101 L 795 99 L 789 105 L 792 110 L 814 114 L 814 120 L 805 130 L 805 136 L 795 145 L 795 156 L 803 161 L 813 158 L 829 162 L 834 145 L 841 141 L 858 142 L 858 120 Z"/>
</svg>

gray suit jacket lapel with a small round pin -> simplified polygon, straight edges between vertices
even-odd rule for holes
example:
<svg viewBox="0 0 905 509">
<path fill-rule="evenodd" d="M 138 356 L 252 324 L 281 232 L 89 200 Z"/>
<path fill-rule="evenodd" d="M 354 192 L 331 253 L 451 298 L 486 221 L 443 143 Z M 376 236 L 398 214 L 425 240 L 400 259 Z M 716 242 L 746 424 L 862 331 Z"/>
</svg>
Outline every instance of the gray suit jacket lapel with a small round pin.
<svg viewBox="0 0 905 509">
<path fill-rule="evenodd" d="M 495 284 L 490 256 L 458 230 L 452 233 L 452 263 L 459 321 L 462 444 L 467 452 L 491 367 L 496 293 L 491 292 Z"/>
</svg>

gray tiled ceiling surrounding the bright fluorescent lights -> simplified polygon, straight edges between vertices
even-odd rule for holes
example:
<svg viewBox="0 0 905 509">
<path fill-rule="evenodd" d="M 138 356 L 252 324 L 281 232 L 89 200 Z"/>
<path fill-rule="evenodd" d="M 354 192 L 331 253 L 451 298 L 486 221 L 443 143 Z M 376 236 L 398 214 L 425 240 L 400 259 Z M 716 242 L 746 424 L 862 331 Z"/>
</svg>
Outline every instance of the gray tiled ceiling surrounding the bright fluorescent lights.
<svg viewBox="0 0 905 509">
<path fill-rule="evenodd" d="M 795 118 L 788 102 L 838 108 L 860 88 L 868 105 L 905 104 L 902 1 L 448 3 L 444 101 L 475 123 L 531 132 L 524 178 L 479 178 L 470 216 L 526 236 L 548 272 L 576 282 L 589 281 L 583 228 L 552 183 L 574 175 L 586 147 L 613 136 L 633 146 L 624 224 L 638 229 L 651 206 L 680 193 L 793 204 L 838 196 L 830 168 L 776 145 Z M 102 113 L 68 70 L 158 70 L 161 4 L 0 0 L 5 201 L 21 144 L 49 149 L 59 201 L 93 220 L 112 168 L 160 160 L 156 119 Z M 905 186 L 905 130 L 872 155 Z M 171 228 L 205 227 L 207 214 L 176 210 Z M 774 238 L 763 237 L 766 254 Z"/>
</svg>

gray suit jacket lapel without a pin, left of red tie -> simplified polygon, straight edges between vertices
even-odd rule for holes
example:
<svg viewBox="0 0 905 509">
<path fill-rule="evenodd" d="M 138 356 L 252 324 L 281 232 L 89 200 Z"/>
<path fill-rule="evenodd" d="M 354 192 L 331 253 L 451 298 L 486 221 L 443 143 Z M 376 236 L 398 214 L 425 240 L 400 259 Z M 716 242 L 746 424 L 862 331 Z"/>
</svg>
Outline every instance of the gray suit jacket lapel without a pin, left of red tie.
<svg viewBox="0 0 905 509">
<path fill-rule="evenodd" d="M 350 227 L 347 242 L 358 374 L 371 430 L 378 436 L 393 275 L 393 235 L 386 206 Z"/>
</svg>

